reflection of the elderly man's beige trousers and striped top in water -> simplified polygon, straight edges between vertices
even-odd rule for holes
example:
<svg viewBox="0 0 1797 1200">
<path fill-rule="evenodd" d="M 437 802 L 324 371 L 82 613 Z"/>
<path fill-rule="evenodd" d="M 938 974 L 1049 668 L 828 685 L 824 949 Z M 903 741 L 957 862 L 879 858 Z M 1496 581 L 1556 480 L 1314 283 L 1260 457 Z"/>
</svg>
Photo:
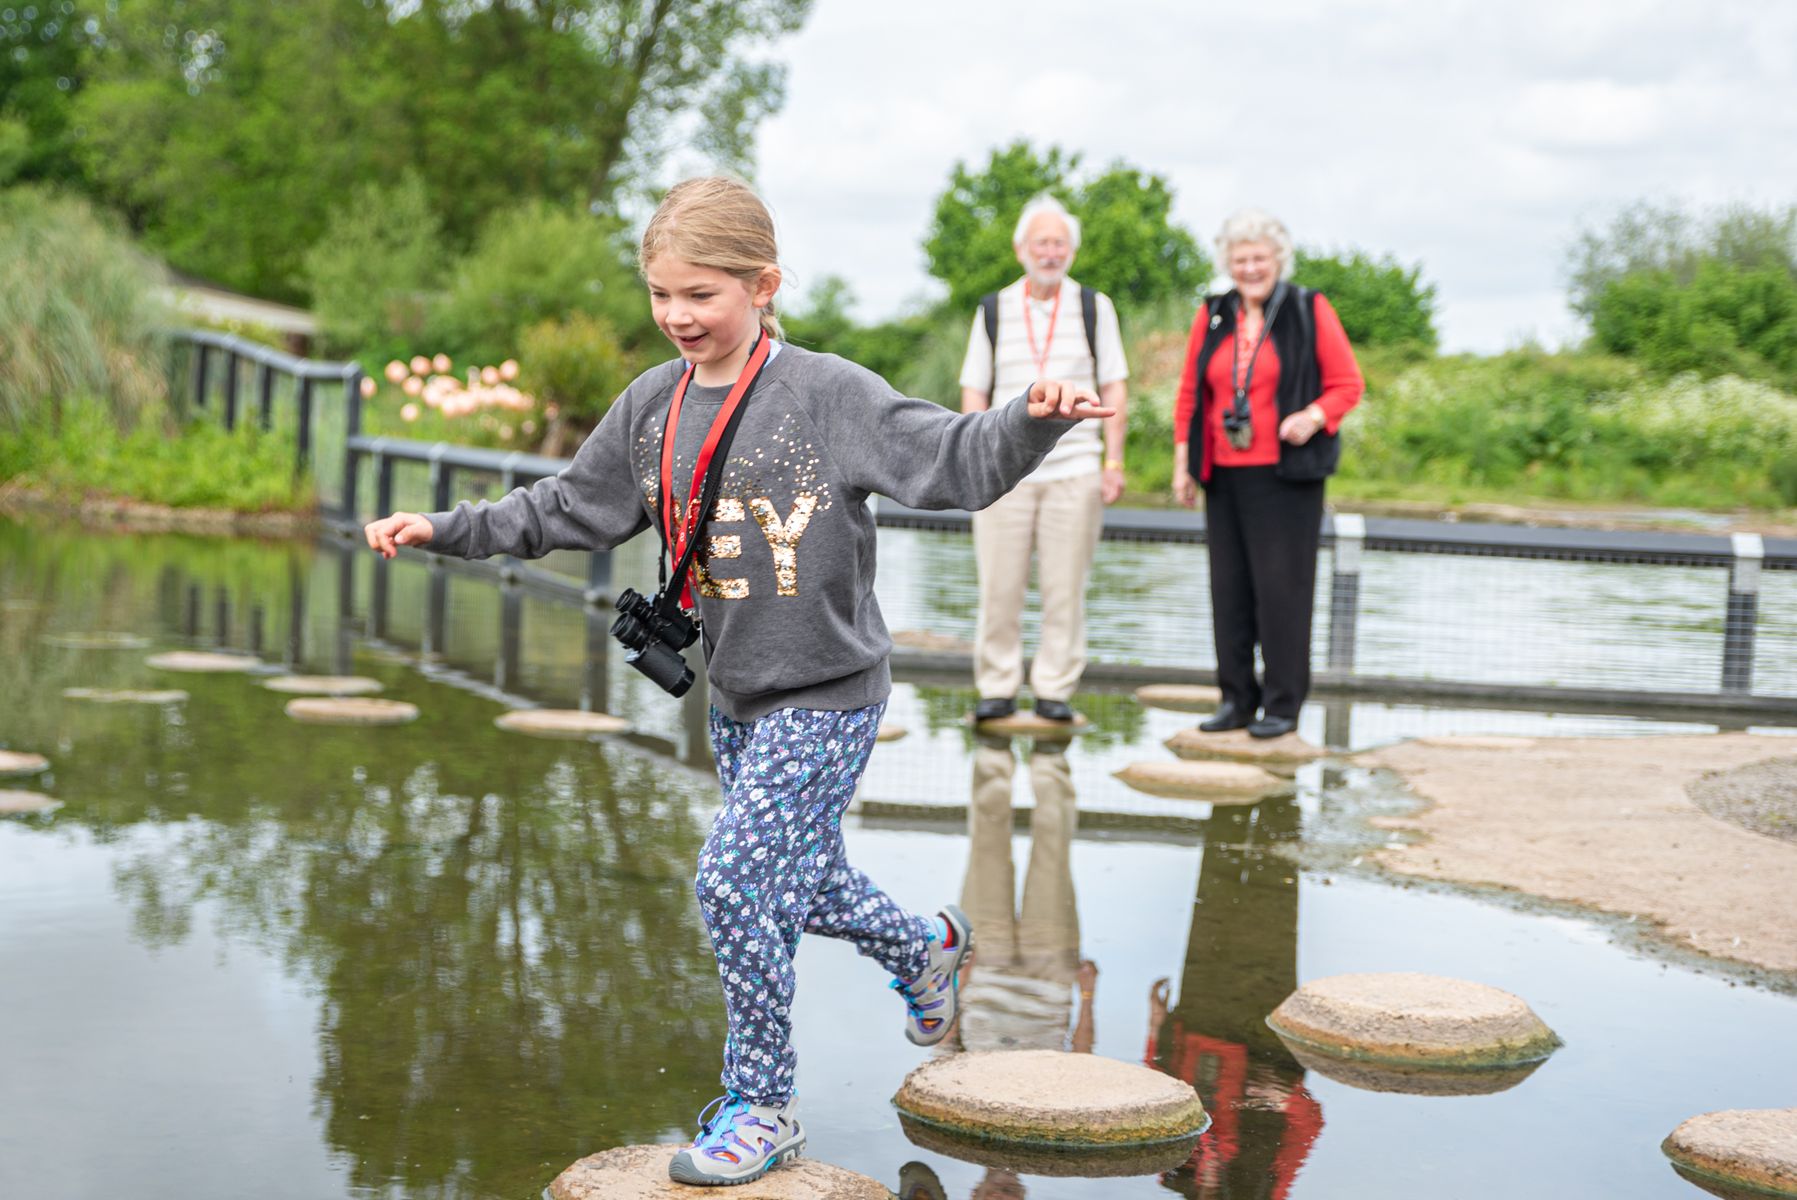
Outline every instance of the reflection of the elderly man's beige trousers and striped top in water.
<svg viewBox="0 0 1797 1200">
<path fill-rule="evenodd" d="M 1073 834 L 1078 805 L 1060 747 L 1030 754 L 1030 864 L 1017 895 L 1012 864 L 1010 742 L 981 738 L 974 751 L 967 880 L 961 909 L 979 931 L 974 965 L 961 977 L 961 1049 L 1093 1049 L 1093 988 L 1098 968 L 1080 959 L 1080 914 L 1073 896 Z M 1073 990 L 1080 1002 L 1075 1017 Z M 1069 1033 L 1071 1020 L 1071 1033 Z"/>
</svg>

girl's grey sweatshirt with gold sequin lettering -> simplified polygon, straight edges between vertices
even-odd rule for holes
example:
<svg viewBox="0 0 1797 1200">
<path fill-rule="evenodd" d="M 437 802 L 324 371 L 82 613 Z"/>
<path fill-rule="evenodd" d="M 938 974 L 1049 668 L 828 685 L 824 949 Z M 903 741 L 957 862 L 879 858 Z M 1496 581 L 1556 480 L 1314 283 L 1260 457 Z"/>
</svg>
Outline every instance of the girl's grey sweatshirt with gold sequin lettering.
<svg viewBox="0 0 1797 1200">
<path fill-rule="evenodd" d="M 557 476 L 496 503 L 428 514 L 429 550 L 462 559 L 607 550 L 652 528 L 661 428 L 685 363 L 643 372 Z M 688 386 L 674 496 L 730 388 Z M 780 708 L 852 710 L 891 692 L 891 638 L 873 598 L 870 494 L 913 508 L 985 508 L 1042 462 L 1071 420 L 1026 397 L 983 413 L 907 399 L 834 354 L 783 345 L 762 368 L 701 528 L 694 595 L 717 706 L 735 720 Z"/>
</svg>

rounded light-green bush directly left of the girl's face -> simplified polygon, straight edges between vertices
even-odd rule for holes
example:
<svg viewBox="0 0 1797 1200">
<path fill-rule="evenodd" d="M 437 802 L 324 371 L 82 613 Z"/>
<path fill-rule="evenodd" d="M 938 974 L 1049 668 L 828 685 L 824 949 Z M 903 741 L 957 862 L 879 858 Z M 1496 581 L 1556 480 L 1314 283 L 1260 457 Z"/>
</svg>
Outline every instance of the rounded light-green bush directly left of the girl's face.
<svg viewBox="0 0 1797 1200">
<path fill-rule="evenodd" d="M 618 228 L 580 208 L 528 203 L 482 230 L 429 318 L 429 341 L 498 361 L 525 329 L 571 313 L 609 322 L 625 350 L 661 338 Z"/>
</svg>

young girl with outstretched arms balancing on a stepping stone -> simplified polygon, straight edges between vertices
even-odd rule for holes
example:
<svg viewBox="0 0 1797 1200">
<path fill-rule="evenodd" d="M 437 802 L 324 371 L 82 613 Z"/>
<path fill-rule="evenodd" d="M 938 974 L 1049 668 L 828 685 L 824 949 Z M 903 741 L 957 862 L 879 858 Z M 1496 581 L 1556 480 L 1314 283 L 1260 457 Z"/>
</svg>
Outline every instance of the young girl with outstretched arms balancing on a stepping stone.
<svg viewBox="0 0 1797 1200">
<path fill-rule="evenodd" d="M 742 1184 L 805 1144 L 791 1024 L 801 932 L 846 938 L 884 966 L 906 1001 L 911 1042 L 934 1046 L 954 1022 L 956 972 L 972 947 L 967 918 L 952 905 L 934 918 L 907 913 L 843 851 L 843 810 L 891 692 L 868 496 L 985 508 L 1076 420 L 1111 415 L 1091 392 L 1048 381 L 956 415 L 900 397 L 854 363 L 782 345 L 776 264 L 773 219 L 748 187 L 677 185 L 643 232 L 642 271 L 679 359 L 625 388 L 555 478 L 498 503 L 395 512 L 367 526 L 368 546 L 388 559 L 399 544 L 464 559 L 600 550 L 652 523 L 674 546 L 701 539 L 690 580 L 670 589 L 688 582 L 697 598 L 712 681 L 724 807 L 695 891 L 730 1033 L 724 1096 L 668 1168 L 683 1184 Z M 717 503 L 699 525 L 695 462 L 710 456 L 713 419 L 751 375 Z"/>
</svg>

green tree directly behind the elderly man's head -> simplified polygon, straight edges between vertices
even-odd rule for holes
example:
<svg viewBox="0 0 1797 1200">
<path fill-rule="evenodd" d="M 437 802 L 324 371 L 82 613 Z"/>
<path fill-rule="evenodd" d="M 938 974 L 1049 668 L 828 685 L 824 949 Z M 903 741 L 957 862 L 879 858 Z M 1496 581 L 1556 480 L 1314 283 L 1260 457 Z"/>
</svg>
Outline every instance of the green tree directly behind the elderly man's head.
<svg viewBox="0 0 1797 1200">
<path fill-rule="evenodd" d="M 1204 251 L 1172 223 L 1166 180 L 1121 162 L 1082 180 L 1078 167 L 1078 154 L 1055 146 L 1037 154 L 1028 142 L 992 151 L 983 171 L 954 163 L 924 241 L 929 271 L 949 286 L 951 307 L 969 311 L 1017 278 L 1012 232 L 1017 214 L 1040 192 L 1080 217 L 1075 277 L 1118 304 L 1190 296 L 1209 280 Z"/>
</svg>

